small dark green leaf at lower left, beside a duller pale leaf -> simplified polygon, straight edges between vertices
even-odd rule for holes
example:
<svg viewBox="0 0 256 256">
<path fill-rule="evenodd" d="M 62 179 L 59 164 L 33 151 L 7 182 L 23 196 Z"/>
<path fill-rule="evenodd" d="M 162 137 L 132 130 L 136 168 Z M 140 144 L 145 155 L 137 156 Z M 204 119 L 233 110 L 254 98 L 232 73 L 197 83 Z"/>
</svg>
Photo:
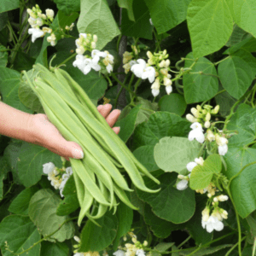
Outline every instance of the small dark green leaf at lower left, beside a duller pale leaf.
<svg viewBox="0 0 256 256">
<path fill-rule="evenodd" d="M 28 215 L 29 201 L 37 191 L 38 188 L 36 186 L 22 190 L 15 200 L 11 202 L 8 211 L 15 214 Z"/>
</svg>

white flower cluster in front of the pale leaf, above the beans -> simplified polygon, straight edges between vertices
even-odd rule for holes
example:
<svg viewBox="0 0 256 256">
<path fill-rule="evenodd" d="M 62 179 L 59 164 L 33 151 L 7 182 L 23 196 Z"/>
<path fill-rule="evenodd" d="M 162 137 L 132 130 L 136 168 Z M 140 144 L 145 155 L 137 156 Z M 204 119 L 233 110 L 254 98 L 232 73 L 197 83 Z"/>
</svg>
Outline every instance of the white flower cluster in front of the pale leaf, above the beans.
<svg viewBox="0 0 256 256">
<path fill-rule="evenodd" d="M 100 51 L 96 48 L 97 36 L 85 33 L 79 34 L 79 39 L 76 39 L 76 60 L 73 61 L 73 67 L 87 74 L 91 69 L 100 71 L 105 67 L 108 73 L 113 71 L 113 55 L 110 55 L 108 50 Z M 86 50 L 91 51 L 89 55 L 83 55 Z M 101 59 L 102 58 L 102 59 Z"/>
</svg>

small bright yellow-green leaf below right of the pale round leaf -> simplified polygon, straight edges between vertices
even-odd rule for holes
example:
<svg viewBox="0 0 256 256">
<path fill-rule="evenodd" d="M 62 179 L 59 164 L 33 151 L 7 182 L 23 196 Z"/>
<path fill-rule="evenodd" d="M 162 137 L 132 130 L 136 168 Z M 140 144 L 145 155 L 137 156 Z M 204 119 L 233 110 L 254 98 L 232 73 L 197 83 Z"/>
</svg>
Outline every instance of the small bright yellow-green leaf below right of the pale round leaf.
<svg viewBox="0 0 256 256">
<path fill-rule="evenodd" d="M 189 178 L 191 189 L 205 189 L 212 180 L 213 174 L 218 174 L 222 169 L 222 161 L 218 154 L 211 154 L 204 161 L 203 166 L 195 166 Z"/>
</svg>

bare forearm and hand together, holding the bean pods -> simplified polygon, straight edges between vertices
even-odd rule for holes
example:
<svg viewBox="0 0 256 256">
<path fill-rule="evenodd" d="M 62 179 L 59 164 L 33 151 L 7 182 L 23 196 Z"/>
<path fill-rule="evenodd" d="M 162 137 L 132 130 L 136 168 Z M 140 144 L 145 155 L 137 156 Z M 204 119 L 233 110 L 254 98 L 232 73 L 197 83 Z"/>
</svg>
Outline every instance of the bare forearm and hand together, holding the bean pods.
<svg viewBox="0 0 256 256">
<path fill-rule="evenodd" d="M 111 104 L 99 105 L 97 109 L 118 134 L 120 128 L 113 125 L 119 118 L 120 110 L 111 111 Z M 62 137 L 55 125 L 49 122 L 46 114 L 25 113 L 3 102 L 0 102 L 0 134 L 48 148 L 66 160 L 78 158 L 74 157 L 74 149 L 82 150 L 78 143 L 68 142 Z"/>
</svg>

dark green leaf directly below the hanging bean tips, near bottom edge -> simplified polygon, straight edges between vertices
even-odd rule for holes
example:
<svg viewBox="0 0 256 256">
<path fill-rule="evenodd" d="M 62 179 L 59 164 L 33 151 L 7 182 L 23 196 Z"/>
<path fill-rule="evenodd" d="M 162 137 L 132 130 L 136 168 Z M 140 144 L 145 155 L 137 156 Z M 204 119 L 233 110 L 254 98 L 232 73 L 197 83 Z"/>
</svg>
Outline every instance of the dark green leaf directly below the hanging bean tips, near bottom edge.
<svg viewBox="0 0 256 256">
<path fill-rule="evenodd" d="M 102 226 L 96 226 L 87 221 L 81 233 L 81 247 L 79 252 L 102 251 L 108 247 L 117 234 L 118 219 L 112 212 L 106 212 L 102 218 L 97 219 L 97 223 Z"/>
</svg>

